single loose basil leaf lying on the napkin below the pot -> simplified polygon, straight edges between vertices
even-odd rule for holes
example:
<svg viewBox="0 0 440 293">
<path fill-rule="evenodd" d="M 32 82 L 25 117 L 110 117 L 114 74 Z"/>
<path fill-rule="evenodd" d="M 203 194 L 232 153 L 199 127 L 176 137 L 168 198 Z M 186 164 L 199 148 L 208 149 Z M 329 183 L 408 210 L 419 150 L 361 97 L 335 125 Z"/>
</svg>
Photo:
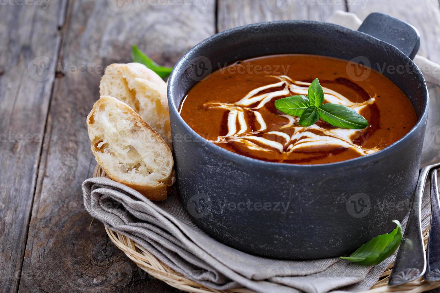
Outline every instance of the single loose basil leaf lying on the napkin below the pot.
<svg viewBox="0 0 440 293">
<path fill-rule="evenodd" d="M 374 237 L 359 247 L 349 257 L 341 259 L 357 262 L 364 265 L 376 265 L 392 256 L 402 241 L 402 226 L 397 220 L 393 220 L 397 227 L 388 234 Z"/>
</svg>

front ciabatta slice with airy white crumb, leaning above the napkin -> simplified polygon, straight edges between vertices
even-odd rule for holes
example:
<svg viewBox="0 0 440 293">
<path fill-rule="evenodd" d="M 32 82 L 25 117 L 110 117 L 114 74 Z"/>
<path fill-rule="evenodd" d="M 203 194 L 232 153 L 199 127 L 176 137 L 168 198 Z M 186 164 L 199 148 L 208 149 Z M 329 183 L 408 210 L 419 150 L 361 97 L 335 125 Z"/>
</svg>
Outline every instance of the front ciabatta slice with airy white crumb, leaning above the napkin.
<svg viewBox="0 0 440 293">
<path fill-rule="evenodd" d="M 102 96 L 87 116 L 96 161 L 114 181 L 151 200 L 164 200 L 173 159 L 162 137 L 116 98 Z"/>
</svg>

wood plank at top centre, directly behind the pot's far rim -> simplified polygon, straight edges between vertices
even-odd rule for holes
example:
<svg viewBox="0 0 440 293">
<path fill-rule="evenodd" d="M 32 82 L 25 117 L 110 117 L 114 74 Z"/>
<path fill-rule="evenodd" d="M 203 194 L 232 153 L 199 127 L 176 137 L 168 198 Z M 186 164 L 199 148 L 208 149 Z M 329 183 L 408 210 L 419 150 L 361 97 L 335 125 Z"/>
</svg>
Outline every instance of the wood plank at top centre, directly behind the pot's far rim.
<svg viewBox="0 0 440 293">
<path fill-rule="evenodd" d="M 308 19 L 325 21 L 344 0 L 218 0 L 219 31 L 255 22 Z"/>
</svg>

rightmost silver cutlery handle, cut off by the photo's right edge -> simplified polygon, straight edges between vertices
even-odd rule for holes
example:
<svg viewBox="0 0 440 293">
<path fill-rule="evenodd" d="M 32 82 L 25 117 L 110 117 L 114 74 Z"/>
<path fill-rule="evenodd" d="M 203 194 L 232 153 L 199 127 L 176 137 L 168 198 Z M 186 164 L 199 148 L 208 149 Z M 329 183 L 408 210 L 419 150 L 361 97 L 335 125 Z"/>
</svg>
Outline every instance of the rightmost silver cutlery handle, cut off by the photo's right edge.
<svg viewBox="0 0 440 293">
<path fill-rule="evenodd" d="M 431 228 L 429 228 L 428 265 L 425 279 L 428 282 L 440 281 L 440 201 L 437 187 L 437 170 L 431 173 Z"/>
</svg>

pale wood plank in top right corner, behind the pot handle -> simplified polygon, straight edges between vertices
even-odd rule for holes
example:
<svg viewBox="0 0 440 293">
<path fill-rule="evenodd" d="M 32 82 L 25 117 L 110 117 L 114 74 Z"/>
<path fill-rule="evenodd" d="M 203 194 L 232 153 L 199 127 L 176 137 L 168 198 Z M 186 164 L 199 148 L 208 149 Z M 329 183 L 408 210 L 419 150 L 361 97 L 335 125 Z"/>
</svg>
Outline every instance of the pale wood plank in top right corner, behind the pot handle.
<svg viewBox="0 0 440 293">
<path fill-rule="evenodd" d="M 440 63 L 440 8 L 438 0 L 368 0 L 366 6 L 361 1 L 348 5 L 348 11 L 365 19 L 371 12 L 382 12 L 414 25 L 420 32 L 418 54 Z"/>
</svg>

